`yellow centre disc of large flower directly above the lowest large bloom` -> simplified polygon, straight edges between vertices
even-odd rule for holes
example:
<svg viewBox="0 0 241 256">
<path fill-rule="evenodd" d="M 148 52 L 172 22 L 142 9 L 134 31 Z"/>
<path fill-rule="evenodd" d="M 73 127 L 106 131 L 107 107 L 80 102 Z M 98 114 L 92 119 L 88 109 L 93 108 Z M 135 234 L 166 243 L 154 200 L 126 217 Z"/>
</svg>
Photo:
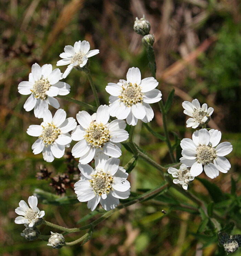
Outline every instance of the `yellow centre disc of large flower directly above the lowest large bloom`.
<svg viewBox="0 0 241 256">
<path fill-rule="evenodd" d="M 109 140 L 109 130 L 106 125 L 92 121 L 90 126 L 86 129 L 84 135 L 88 145 L 95 148 L 101 148 Z"/>
</svg>

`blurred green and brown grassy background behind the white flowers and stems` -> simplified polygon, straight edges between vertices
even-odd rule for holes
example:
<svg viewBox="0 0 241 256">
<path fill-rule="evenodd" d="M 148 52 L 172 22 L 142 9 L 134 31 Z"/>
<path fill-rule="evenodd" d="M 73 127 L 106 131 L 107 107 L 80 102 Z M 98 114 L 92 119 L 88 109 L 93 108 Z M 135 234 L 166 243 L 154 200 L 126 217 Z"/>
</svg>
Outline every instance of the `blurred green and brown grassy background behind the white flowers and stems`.
<svg viewBox="0 0 241 256">
<path fill-rule="evenodd" d="M 46 242 L 28 242 L 21 237 L 23 225 L 14 223 L 17 216 L 14 209 L 19 201 L 27 201 L 35 188 L 73 196 L 72 186 L 79 173 L 76 162 L 67 155 L 53 163 L 45 163 L 42 154 L 33 155 L 31 145 L 35 139 L 28 136 L 26 130 L 31 124 L 40 124 L 41 119 L 35 118 L 33 111 L 23 109 L 27 96 L 20 95 L 17 87 L 19 82 L 28 80 L 33 63 L 41 66 L 51 63 L 56 68 L 64 46 L 85 39 L 91 49 L 100 50 L 90 59 L 90 69 L 101 104 L 108 104 L 105 86 L 125 78 L 128 68 L 139 67 L 142 78 L 151 76 L 141 36 L 133 30 L 135 17 L 145 14 L 151 23 L 150 32 L 155 36 L 158 89 L 163 93 L 164 102 L 175 88 L 174 104 L 168 115 L 169 130 L 181 139 L 193 132 L 185 127 L 187 117 L 183 114 L 182 101 L 198 98 L 201 104 L 206 102 L 213 107 L 209 127 L 221 130 L 222 141 L 232 143 L 233 151 L 228 156 L 232 167 L 228 174 L 220 173 L 213 180 L 203 174 L 200 177 L 216 184 L 223 193 L 230 193 L 232 176 L 240 195 L 240 1 L 1 0 L 0 4 L 0 255 L 225 255 L 217 242 L 195 236 L 201 218 L 193 210 L 174 207 L 175 198 L 190 202 L 172 189 L 165 194 L 169 199 L 158 197 L 112 215 L 95 228 L 92 239 L 83 247 L 56 250 L 47 247 Z M 60 67 L 62 72 L 65 68 Z M 65 81 L 71 85 L 69 96 L 94 104 L 85 73 L 73 70 Z M 79 110 L 84 110 L 58 100 L 67 116 L 75 117 Z M 151 126 L 163 134 L 161 113 L 157 105 L 153 104 L 153 108 L 155 118 Z M 53 108 L 50 110 L 55 112 Z M 151 136 L 140 123 L 136 130 L 135 142 L 158 163 L 169 164 L 164 142 Z M 174 143 L 173 134 L 170 136 Z M 125 149 L 123 152 L 122 166 L 131 157 Z M 43 174 L 37 174 L 41 165 L 52 172 L 52 180 L 41 180 Z M 157 170 L 142 160 L 138 160 L 128 179 L 132 192 L 138 194 L 163 182 Z M 203 200 L 212 200 L 199 181 L 195 180 L 189 188 Z M 41 200 L 39 203 L 39 208 L 45 210 L 46 220 L 67 227 L 75 227 L 76 222 L 90 212 L 86 203 L 68 206 L 41 204 Z M 161 213 L 162 209 L 167 211 L 166 215 Z M 236 213 L 235 210 L 237 208 L 233 214 L 239 216 L 240 209 Z M 40 230 L 44 235 L 50 233 L 46 226 Z M 240 230 L 234 228 L 232 234 L 237 233 Z M 81 234 L 69 235 L 67 240 Z M 240 249 L 233 255 L 241 255 Z"/>
</svg>

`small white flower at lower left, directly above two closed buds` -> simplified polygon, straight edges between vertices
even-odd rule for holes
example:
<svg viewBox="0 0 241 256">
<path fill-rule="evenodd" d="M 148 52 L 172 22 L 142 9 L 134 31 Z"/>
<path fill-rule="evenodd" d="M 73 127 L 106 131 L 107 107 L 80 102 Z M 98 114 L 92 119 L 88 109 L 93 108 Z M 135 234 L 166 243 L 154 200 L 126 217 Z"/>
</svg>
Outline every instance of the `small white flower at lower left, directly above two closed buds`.
<svg viewBox="0 0 241 256">
<path fill-rule="evenodd" d="M 24 200 L 21 200 L 19 202 L 19 207 L 15 209 L 15 213 L 21 216 L 15 218 L 15 223 L 27 224 L 29 227 L 41 224 L 42 217 L 44 216 L 45 212 L 40 211 L 37 207 L 38 198 L 36 196 L 30 196 L 28 199 L 28 203 L 30 208 Z"/>
</svg>

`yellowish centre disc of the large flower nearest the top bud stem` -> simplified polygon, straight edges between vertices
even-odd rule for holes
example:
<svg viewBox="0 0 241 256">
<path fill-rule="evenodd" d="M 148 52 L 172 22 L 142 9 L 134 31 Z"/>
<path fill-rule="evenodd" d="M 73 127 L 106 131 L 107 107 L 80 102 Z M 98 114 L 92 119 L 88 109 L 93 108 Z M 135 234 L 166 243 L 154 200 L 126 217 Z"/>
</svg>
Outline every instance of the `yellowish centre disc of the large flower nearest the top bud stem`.
<svg viewBox="0 0 241 256">
<path fill-rule="evenodd" d="M 127 107 L 131 107 L 133 104 L 137 104 L 138 102 L 142 103 L 143 93 L 140 86 L 138 86 L 136 83 L 132 84 L 130 82 L 126 82 L 123 84 L 122 89 L 123 90 L 119 98 Z"/>
</svg>

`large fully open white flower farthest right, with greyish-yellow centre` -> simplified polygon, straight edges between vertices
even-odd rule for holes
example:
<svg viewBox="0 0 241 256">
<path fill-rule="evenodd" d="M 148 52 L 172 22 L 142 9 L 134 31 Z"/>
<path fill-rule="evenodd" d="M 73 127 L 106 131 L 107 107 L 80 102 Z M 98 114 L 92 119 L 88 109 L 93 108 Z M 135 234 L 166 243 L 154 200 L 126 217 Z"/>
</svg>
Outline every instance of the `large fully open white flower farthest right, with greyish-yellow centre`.
<svg viewBox="0 0 241 256">
<path fill-rule="evenodd" d="M 192 134 L 192 140 L 181 140 L 181 163 L 191 167 L 192 176 L 198 176 L 203 169 L 210 178 L 216 178 L 219 171 L 227 173 L 231 165 L 227 158 L 233 147 L 230 142 L 222 142 L 221 131 L 200 129 Z M 219 144 L 219 145 L 218 145 Z"/>
</svg>

